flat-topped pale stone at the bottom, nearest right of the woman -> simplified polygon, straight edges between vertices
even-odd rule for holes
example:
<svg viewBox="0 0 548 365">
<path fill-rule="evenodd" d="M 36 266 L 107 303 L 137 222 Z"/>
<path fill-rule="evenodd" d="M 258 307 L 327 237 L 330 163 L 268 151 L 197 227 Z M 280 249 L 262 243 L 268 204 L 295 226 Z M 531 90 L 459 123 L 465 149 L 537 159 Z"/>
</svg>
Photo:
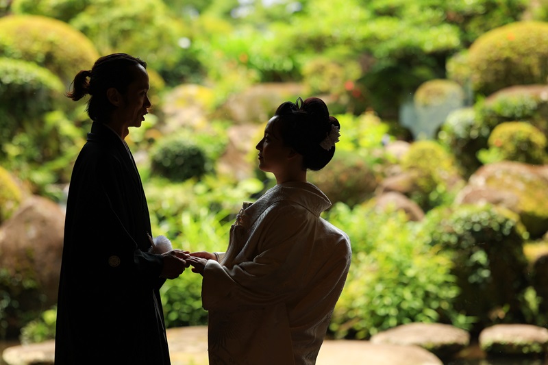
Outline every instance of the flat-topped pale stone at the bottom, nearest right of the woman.
<svg viewBox="0 0 548 365">
<path fill-rule="evenodd" d="M 447 358 L 467 347 L 470 335 L 463 329 L 441 323 L 409 323 L 373 335 L 371 343 L 415 345 Z"/>
</svg>

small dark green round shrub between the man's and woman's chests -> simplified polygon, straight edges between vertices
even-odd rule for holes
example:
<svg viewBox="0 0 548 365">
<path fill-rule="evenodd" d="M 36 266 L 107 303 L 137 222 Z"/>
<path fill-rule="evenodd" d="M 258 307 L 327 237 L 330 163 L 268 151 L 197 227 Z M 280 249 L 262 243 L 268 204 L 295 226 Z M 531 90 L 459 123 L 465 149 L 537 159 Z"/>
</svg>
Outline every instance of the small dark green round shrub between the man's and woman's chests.
<svg viewBox="0 0 548 365">
<path fill-rule="evenodd" d="M 208 158 L 196 144 L 174 135 L 156 142 L 151 151 L 151 172 L 172 181 L 200 178 L 208 172 Z"/>
</svg>

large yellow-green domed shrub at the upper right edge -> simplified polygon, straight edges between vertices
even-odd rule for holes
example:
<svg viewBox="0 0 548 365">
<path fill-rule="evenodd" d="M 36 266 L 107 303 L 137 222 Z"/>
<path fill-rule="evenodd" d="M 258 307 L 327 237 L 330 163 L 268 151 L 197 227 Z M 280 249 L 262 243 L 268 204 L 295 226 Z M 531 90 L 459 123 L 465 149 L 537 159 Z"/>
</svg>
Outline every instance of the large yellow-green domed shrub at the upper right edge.
<svg viewBox="0 0 548 365">
<path fill-rule="evenodd" d="M 469 49 L 471 82 L 483 95 L 512 85 L 545 84 L 548 23 L 522 21 L 483 34 Z"/>
</svg>

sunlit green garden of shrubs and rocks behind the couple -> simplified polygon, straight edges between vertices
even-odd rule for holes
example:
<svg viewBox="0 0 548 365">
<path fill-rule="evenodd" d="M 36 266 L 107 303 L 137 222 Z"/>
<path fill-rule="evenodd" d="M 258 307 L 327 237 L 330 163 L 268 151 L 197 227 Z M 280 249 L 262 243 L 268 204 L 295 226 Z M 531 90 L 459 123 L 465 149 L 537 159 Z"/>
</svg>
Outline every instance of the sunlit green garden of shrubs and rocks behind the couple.
<svg viewBox="0 0 548 365">
<path fill-rule="evenodd" d="M 112 52 L 149 64 L 127 142 L 153 234 L 223 251 L 275 184 L 256 168 L 266 121 L 317 96 L 342 137 L 310 181 L 353 249 L 328 335 L 546 327 L 547 45 L 544 0 L 0 0 L 0 337 L 54 336 L 62 232 L 25 214 L 62 218 L 90 128 L 64 92 Z M 190 271 L 164 284 L 168 327 L 207 323 L 200 291 Z"/>
</svg>

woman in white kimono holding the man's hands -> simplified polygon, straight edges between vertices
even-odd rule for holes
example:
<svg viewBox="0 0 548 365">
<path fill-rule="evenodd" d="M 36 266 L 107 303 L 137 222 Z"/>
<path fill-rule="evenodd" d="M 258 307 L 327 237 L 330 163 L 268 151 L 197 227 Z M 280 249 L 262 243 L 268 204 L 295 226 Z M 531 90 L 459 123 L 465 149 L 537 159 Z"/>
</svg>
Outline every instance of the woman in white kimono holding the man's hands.
<svg viewBox="0 0 548 365">
<path fill-rule="evenodd" d="M 331 202 L 306 172 L 332 159 L 339 129 L 321 99 L 280 105 L 256 147 L 277 185 L 244 204 L 226 253 L 187 259 L 203 275 L 210 364 L 315 364 L 351 249 L 320 217 Z"/>
</svg>

